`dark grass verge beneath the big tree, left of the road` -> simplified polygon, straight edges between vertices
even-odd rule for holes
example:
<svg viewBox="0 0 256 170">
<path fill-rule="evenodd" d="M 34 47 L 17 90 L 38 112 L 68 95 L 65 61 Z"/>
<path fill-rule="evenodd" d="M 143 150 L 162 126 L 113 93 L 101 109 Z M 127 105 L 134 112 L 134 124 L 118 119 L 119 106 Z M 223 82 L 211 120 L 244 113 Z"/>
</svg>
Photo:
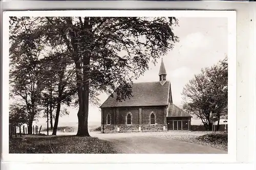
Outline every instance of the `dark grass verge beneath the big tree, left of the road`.
<svg viewBox="0 0 256 170">
<path fill-rule="evenodd" d="M 96 137 L 26 136 L 9 140 L 9 153 L 116 154 L 111 142 Z"/>
</svg>

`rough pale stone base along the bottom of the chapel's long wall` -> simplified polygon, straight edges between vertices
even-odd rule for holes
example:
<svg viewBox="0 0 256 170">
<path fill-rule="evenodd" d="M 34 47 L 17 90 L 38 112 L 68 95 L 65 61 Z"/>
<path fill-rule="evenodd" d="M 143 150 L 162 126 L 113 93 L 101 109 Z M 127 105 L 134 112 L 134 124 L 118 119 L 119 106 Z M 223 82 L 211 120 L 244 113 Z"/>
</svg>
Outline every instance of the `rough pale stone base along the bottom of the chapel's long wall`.
<svg viewBox="0 0 256 170">
<path fill-rule="evenodd" d="M 167 132 L 167 125 L 101 125 L 101 133 Z"/>
</svg>

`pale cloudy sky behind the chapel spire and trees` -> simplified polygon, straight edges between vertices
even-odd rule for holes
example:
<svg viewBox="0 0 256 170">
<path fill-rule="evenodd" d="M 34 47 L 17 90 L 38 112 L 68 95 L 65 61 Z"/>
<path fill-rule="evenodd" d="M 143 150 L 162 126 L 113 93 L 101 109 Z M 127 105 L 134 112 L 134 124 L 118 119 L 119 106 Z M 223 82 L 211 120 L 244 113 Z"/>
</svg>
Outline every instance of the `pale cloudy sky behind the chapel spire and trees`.
<svg viewBox="0 0 256 170">
<path fill-rule="evenodd" d="M 166 80 L 170 81 L 172 88 L 173 103 L 181 106 L 181 92 L 183 86 L 193 79 L 194 75 L 199 74 L 201 69 L 217 64 L 224 59 L 228 53 L 228 24 L 227 18 L 220 17 L 186 17 L 178 18 L 179 27 L 174 27 L 174 34 L 179 37 L 179 42 L 175 43 L 172 51 L 166 56 L 162 56 L 167 72 Z M 150 69 L 145 74 L 134 80 L 138 82 L 159 81 L 159 68 L 161 58 L 154 65 L 150 63 Z M 108 95 L 99 96 L 102 104 Z M 68 108 L 69 115 L 59 118 L 59 125 L 69 122 L 77 122 L 77 108 Z M 38 123 L 45 123 L 46 118 L 39 118 Z M 101 111 L 98 107 L 89 107 L 89 126 L 90 123 L 101 120 Z"/>
</svg>

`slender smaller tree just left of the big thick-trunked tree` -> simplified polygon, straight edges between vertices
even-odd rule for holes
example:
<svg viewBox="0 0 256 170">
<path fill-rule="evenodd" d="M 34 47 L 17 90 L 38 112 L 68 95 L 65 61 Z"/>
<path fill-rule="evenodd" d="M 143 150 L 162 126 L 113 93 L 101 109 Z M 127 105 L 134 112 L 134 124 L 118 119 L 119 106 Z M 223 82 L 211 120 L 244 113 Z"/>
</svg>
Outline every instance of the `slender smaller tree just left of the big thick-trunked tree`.
<svg viewBox="0 0 256 170">
<path fill-rule="evenodd" d="M 76 93 L 74 64 L 67 59 L 66 55 L 65 49 L 57 48 L 55 52 L 49 52 L 40 60 L 41 67 L 45 72 L 44 79 L 47 80 L 44 89 L 44 99 L 46 100 L 42 100 L 42 104 L 46 108 L 45 111 L 50 115 L 53 135 L 57 133 L 61 105 L 69 106 L 74 101 L 74 94 Z M 54 109 L 56 110 L 55 115 L 53 114 Z M 54 126 L 52 125 L 53 118 L 55 119 Z"/>
</svg>

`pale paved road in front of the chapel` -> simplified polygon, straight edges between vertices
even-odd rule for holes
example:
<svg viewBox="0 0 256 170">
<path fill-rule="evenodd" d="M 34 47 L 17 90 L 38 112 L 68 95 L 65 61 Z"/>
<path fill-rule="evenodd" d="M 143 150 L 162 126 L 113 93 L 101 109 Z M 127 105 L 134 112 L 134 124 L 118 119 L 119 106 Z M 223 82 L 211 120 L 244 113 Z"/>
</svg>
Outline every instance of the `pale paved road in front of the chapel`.
<svg viewBox="0 0 256 170">
<path fill-rule="evenodd" d="M 204 145 L 163 139 L 151 135 L 136 134 L 92 134 L 114 143 L 124 154 L 227 154 L 226 151 Z"/>
</svg>

